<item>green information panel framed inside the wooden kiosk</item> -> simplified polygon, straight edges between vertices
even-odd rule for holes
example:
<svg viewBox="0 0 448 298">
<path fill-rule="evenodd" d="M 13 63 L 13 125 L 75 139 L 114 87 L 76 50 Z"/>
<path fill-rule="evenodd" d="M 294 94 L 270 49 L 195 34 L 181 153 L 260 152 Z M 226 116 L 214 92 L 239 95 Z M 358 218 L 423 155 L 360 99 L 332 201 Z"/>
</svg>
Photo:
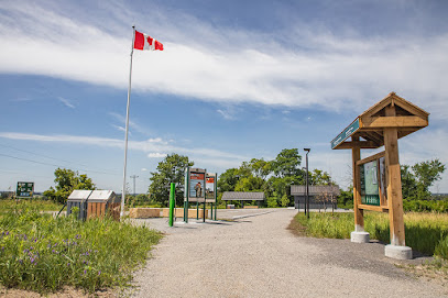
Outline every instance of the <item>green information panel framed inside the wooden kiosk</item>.
<svg viewBox="0 0 448 298">
<path fill-rule="evenodd" d="M 380 206 L 378 161 L 360 165 L 361 203 Z"/>
</svg>

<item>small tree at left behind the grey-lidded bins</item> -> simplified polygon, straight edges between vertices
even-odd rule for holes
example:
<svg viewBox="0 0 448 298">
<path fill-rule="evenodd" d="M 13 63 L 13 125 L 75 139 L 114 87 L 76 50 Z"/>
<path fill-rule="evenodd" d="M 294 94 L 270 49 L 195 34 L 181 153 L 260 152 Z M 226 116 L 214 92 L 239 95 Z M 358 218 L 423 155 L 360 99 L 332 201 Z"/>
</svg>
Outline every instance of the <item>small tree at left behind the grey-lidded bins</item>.
<svg viewBox="0 0 448 298">
<path fill-rule="evenodd" d="M 56 168 L 54 176 L 56 177 L 54 179 L 56 189 L 50 187 L 48 190 L 44 191 L 44 196 L 55 202 L 65 203 L 74 189 L 94 190 L 96 188 L 92 180 L 86 174 L 79 175 L 78 172 L 72 169 Z"/>
</svg>

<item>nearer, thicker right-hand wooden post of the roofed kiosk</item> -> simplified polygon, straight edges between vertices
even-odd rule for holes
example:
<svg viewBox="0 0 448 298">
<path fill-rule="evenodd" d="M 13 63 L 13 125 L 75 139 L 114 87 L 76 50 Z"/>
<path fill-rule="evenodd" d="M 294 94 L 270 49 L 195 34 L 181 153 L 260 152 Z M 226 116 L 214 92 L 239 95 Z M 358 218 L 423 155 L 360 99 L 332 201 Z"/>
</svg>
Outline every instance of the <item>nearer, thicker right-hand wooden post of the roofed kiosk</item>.
<svg viewBox="0 0 448 298">
<path fill-rule="evenodd" d="M 385 108 L 386 117 L 395 117 L 395 107 Z M 402 177 L 398 161 L 398 132 L 396 128 L 384 129 L 389 220 L 391 244 L 406 246 L 403 220 Z"/>
</svg>

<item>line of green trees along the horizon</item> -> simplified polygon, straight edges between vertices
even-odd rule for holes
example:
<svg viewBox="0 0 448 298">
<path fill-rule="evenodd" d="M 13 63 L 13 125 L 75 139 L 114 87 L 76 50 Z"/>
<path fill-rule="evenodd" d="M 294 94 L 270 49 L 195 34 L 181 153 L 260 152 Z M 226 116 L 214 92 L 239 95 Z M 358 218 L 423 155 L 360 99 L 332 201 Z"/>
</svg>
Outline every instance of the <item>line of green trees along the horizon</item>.
<svg viewBox="0 0 448 298">
<path fill-rule="evenodd" d="M 223 191 L 262 191 L 265 194 L 266 207 L 294 206 L 291 196 L 292 185 L 305 185 L 306 170 L 302 166 L 302 155 L 297 148 L 284 148 L 272 161 L 252 158 L 242 162 L 239 167 L 229 168 L 218 176 L 218 203 Z M 176 185 L 176 203 L 183 206 L 185 168 L 194 166 L 188 156 L 176 153 L 161 161 L 156 170 L 151 173 L 151 185 L 146 195 L 127 196 L 130 205 L 167 206 L 170 184 Z M 439 159 L 416 163 L 413 166 L 402 165 L 402 190 L 405 210 L 448 212 L 448 198 L 431 197 L 429 188 L 441 179 L 445 165 Z M 321 169 L 309 170 L 309 185 L 335 185 L 330 175 Z M 55 187 L 44 196 L 55 202 L 65 202 L 74 189 L 96 189 L 91 178 L 72 169 L 55 170 Z M 352 208 L 352 188 L 342 190 L 338 206 Z"/>
</svg>

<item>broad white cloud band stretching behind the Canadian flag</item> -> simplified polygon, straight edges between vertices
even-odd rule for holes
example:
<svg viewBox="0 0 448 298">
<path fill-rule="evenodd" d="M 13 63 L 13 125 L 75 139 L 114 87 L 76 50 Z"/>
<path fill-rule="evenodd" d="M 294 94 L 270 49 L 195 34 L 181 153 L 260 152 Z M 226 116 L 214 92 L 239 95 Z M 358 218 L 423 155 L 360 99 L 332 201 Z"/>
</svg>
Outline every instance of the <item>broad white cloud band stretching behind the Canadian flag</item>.
<svg viewBox="0 0 448 298">
<path fill-rule="evenodd" d="M 130 30 L 123 24 L 134 15 L 143 27 L 151 19 L 147 27 L 165 46 L 164 52 L 135 51 L 134 91 L 227 103 L 359 110 L 394 90 L 423 108 L 448 110 L 448 34 L 339 37 L 292 24 L 267 38 L 162 9 L 151 12 L 151 18 L 129 10 L 120 14 L 119 1 L 102 12 L 109 18 L 101 18 L 99 11 L 95 12 L 99 16 L 89 18 L 84 11 L 76 19 L 57 2 L 41 7 L 3 2 L 0 8 L 3 74 L 45 75 L 125 89 Z M 18 35 L 28 41 L 25 47 L 17 46 Z M 285 40 L 288 44 L 280 42 Z"/>
</svg>

